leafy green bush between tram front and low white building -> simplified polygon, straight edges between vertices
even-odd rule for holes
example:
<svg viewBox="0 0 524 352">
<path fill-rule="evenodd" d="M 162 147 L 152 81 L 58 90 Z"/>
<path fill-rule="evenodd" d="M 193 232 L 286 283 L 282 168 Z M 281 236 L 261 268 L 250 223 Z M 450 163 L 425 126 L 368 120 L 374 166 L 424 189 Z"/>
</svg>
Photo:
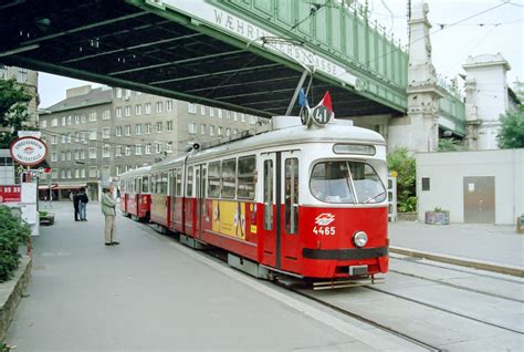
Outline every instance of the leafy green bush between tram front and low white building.
<svg viewBox="0 0 524 352">
<path fill-rule="evenodd" d="M 398 211 L 410 213 L 417 210 L 416 197 L 416 164 L 415 158 L 405 147 L 397 148 L 388 154 L 388 168 L 397 172 L 397 204 Z"/>
</svg>

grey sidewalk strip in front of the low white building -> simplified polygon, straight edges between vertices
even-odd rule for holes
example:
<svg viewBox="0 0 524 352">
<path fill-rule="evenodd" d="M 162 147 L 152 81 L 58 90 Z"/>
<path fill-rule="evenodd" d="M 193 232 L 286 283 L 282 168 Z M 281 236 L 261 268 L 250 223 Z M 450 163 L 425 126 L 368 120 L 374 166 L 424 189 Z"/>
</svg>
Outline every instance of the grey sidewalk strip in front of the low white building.
<svg viewBox="0 0 524 352">
<path fill-rule="evenodd" d="M 524 235 L 511 225 L 389 222 L 391 247 L 524 268 Z"/>
</svg>

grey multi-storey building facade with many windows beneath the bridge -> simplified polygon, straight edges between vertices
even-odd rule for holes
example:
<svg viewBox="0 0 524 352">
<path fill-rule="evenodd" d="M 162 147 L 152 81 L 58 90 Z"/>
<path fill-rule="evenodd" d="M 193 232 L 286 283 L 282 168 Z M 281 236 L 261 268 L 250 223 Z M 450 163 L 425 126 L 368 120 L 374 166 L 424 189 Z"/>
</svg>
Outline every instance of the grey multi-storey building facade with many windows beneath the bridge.
<svg viewBox="0 0 524 352">
<path fill-rule="evenodd" d="M 259 117 L 123 89 L 81 86 L 40 112 L 53 197 L 101 187 L 122 173 L 176 157 L 193 143 L 254 130 Z M 44 190 L 45 191 L 45 190 Z"/>
</svg>

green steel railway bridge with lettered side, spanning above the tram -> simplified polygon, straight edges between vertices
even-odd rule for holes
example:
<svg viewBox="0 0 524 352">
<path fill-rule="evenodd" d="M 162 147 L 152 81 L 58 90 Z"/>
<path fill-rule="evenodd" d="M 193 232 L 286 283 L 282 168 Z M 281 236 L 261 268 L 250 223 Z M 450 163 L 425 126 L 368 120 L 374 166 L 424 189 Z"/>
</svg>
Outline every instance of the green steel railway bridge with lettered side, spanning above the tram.
<svg viewBox="0 0 524 352">
<path fill-rule="evenodd" d="M 2 1 L 0 62 L 266 117 L 297 114 L 298 85 L 337 117 L 405 116 L 408 52 L 348 3 Z M 463 103 L 439 97 L 439 128 L 463 136 Z"/>
</svg>

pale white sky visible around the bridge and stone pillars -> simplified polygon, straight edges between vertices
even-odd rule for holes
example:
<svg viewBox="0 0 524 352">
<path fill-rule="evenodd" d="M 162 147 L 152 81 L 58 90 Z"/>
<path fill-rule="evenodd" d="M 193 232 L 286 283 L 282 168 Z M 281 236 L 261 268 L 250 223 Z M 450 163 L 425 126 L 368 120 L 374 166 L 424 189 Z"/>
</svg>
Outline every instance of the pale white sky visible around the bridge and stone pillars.
<svg viewBox="0 0 524 352">
<path fill-rule="evenodd" d="M 368 1 L 371 20 L 377 20 L 386 32 L 392 33 L 406 44 L 407 0 Z M 412 3 L 418 1 L 420 0 L 411 0 Z M 510 86 L 517 77 L 524 81 L 524 0 L 427 0 L 427 2 L 428 17 L 432 23 L 433 65 L 438 74 L 451 80 L 459 73 L 464 73 L 462 65 L 468 56 L 501 53 L 512 68 L 507 72 Z M 480 12 L 484 13 L 475 15 Z M 85 84 L 90 82 L 41 73 L 40 107 L 48 107 L 65 99 L 66 89 Z M 96 83 L 91 84 L 94 87 L 99 86 Z"/>
</svg>

